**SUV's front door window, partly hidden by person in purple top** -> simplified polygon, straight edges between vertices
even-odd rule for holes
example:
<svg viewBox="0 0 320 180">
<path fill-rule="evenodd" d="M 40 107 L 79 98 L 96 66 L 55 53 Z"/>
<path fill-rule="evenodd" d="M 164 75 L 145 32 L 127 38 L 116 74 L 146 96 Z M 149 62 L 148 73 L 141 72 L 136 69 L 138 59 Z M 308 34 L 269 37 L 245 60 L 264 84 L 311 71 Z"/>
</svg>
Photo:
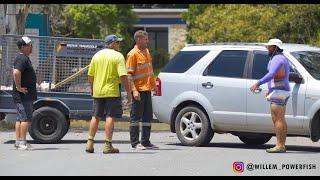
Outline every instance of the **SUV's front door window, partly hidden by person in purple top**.
<svg viewBox="0 0 320 180">
<path fill-rule="evenodd" d="M 268 73 L 269 60 L 270 56 L 267 51 L 253 52 L 252 79 L 261 79 Z M 291 66 L 290 72 L 295 72 Z"/>
</svg>

